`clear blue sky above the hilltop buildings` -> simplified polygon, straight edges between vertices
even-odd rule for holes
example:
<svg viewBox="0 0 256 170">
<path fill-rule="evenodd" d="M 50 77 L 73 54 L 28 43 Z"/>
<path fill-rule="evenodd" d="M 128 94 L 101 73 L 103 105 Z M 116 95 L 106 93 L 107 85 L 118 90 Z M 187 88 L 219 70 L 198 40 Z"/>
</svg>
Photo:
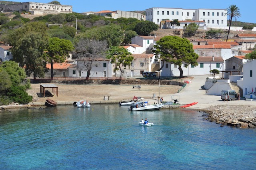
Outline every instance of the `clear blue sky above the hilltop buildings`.
<svg viewBox="0 0 256 170">
<path fill-rule="evenodd" d="M 53 0 L 12 0 L 16 2 L 48 3 Z M 237 21 L 256 24 L 256 0 L 58 0 L 62 5 L 71 5 L 73 12 L 99 12 L 102 10 L 142 11 L 148 8 L 183 8 L 183 9 L 226 9 L 236 5 L 241 16 Z"/>
</svg>

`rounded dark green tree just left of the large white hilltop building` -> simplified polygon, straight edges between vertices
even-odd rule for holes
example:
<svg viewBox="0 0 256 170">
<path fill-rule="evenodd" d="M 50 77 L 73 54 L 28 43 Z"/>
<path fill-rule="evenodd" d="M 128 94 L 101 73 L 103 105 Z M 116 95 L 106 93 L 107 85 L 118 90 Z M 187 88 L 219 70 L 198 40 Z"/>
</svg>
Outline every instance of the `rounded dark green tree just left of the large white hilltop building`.
<svg viewBox="0 0 256 170">
<path fill-rule="evenodd" d="M 134 31 L 140 36 L 148 36 L 153 30 L 158 30 L 159 26 L 151 21 L 142 21 L 136 24 Z"/>
</svg>

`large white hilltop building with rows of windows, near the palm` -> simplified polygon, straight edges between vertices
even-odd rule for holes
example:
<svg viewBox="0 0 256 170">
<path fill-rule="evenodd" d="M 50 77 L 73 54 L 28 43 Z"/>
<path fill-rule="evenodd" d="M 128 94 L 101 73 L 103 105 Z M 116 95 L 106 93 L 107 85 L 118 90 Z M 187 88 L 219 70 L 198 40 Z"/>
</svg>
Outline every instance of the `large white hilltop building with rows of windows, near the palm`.
<svg viewBox="0 0 256 170">
<path fill-rule="evenodd" d="M 149 8 L 146 9 L 146 20 L 158 25 L 162 20 L 194 20 L 221 27 L 227 26 L 226 13 L 226 9 Z"/>
</svg>

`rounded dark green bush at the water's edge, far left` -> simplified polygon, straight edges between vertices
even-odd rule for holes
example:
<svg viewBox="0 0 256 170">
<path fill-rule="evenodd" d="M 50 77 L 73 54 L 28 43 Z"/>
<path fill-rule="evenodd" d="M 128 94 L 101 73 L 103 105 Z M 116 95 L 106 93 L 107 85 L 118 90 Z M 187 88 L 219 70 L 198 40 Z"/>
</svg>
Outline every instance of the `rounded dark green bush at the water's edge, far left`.
<svg viewBox="0 0 256 170">
<path fill-rule="evenodd" d="M 28 104 L 32 101 L 33 97 L 28 95 L 25 90 L 24 86 L 12 86 L 6 95 L 9 96 L 14 103 Z"/>
</svg>

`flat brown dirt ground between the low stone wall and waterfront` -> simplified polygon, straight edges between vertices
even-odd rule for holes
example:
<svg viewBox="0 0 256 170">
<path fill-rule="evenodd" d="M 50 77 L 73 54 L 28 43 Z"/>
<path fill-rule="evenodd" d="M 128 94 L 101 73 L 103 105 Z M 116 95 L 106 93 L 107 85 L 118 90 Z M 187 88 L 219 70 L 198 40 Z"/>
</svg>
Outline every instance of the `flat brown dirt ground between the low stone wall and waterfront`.
<svg viewBox="0 0 256 170">
<path fill-rule="evenodd" d="M 134 96 L 150 99 L 153 94 L 159 95 L 159 85 L 141 85 L 141 89 L 132 88 L 132 85 L 76 85 L 76 84 L 54 84 L 58 86 L 58 97 L 54 95 L 51 88 L 50 91 L 54 101 L 99 101 L 104 96 L 111 96 L 112 100 L 127 100 Z M 28 94 L 33 96 L 32 102 L 44 102 L 47 98 L 40 94 L 40 84 L 31 84 L 32 89 L 28 90 Z M 180 86 L 160 85 L 161 97 L 177 93 Z"/>
</svg>

